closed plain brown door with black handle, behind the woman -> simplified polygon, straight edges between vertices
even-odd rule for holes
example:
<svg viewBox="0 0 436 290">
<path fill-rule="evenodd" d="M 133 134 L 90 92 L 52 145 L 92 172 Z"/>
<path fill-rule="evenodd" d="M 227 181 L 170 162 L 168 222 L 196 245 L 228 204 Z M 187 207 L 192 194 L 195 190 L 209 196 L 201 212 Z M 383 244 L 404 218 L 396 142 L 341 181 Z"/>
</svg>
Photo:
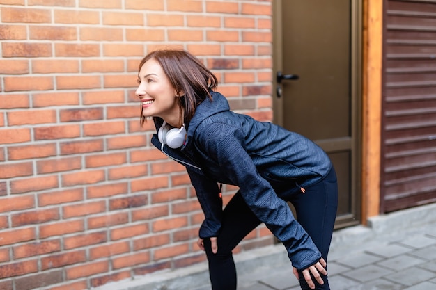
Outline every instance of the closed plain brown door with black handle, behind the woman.
<svg viewBox="0 0 436 290">
<path fill-rule="evenodd" d="M 339 186 L 336 227 L 360 220 L 357 83 L 352 78 L 357 67 L 352 10 L 357 8 L 350 2 L 284 0 L 274 10 L 280 18 L 274 70 L 285 74 L 277 79 L 274 121 L 316 141 L 332 159 Z"/>
</svg>

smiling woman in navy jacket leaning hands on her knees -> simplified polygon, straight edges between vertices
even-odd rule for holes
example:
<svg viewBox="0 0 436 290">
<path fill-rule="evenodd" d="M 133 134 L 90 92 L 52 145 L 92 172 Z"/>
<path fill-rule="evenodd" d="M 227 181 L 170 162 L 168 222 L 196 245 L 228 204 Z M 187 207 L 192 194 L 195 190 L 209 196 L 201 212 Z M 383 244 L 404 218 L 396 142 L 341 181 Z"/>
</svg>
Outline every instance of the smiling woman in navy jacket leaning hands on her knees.
<svg viewBox="0 0 436 290">
<path fill-rule="evenodd" d="M 232 250 L 260 223 L 286 247 L 302 289 L 329 289 L 337 186 L 327 154 L 299 134 L 231 112 L 215 75 L 187 51 L 148 54 L 138 83 L 141 126 L 153 117 L 153 145 L 186 166 L 205 214 L 197 243 L 212 289 L 236 289 Z M 239 187 L 224 210 L 221 184 Z"/>
</svg>

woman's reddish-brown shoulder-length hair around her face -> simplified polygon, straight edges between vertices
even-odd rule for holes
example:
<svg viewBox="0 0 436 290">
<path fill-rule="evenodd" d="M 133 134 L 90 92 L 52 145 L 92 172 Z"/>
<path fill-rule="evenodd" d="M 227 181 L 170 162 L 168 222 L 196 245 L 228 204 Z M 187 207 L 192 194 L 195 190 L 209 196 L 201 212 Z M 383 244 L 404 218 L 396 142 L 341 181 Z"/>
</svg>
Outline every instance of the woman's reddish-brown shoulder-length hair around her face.
<svg viewBox="0 0 436 290">
<path fill-rule="evenodd" d="M 198 58 L 184 50 L 158 50 L 150 52 L 139 63 L 138 74 L 144 63 L 150 59 L 155 59 L 164 70 L 171 85 L 176 89 L 178 94 L 184 92 L 184 96 L 178 95 L 180 105 L 181 126 L 184 121 L 189 122 L 194 116 L 196 107 L 210 95 L 210 90 L 215 90 L 218 86 L 217 77 L 208 70 Z M 185 120 L 182 120 L 182 109 L 185 110 Z M 146 117 L 142 115 L 141 110 L 141 127 Z"/>
</svg>

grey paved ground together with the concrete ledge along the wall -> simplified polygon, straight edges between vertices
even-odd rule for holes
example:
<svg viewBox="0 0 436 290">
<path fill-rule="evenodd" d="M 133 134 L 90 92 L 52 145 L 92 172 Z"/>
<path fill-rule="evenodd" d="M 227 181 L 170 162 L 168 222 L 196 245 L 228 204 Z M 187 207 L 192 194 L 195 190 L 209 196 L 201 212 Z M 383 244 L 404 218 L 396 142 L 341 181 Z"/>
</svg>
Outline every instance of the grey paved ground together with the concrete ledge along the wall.
<svg viewBox="0 0 436 290">
<path fill-rule="evenodd" d="M 281 244 L 235 255 L 238 290 L 299 290 Z M 436 290 L 436 203 L 334 232 L 332 290 Z M 223 277 L 225 279 L 225 277 Z M 99 290 L 210 290 L 206 264 L 153 273 Z"/>
</svg>

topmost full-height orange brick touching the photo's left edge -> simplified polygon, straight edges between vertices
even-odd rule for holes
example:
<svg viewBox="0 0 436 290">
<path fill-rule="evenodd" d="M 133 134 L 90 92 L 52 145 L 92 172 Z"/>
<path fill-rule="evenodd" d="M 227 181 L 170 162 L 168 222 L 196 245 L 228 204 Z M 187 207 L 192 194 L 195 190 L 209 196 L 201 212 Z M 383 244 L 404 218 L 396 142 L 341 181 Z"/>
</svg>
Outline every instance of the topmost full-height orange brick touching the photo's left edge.
<svg viewBox="0 0 436 290">
<path fill-rule="evenodd" d="M 17 23 L 50 23 L 52 17 L 48 9 L 36 8 L 1 8 L 2 22 L 17 22 Z"/>
</svg>

